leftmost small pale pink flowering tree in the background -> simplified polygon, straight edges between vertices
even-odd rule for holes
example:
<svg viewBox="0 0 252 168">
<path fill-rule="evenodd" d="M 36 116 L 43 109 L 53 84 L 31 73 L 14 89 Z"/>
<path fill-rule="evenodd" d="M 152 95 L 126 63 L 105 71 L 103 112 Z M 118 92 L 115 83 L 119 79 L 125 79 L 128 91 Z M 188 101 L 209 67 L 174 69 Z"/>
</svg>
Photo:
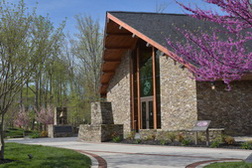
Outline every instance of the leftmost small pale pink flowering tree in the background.
<svg viewBox="0 0 252 168">
<path fill-rule="evenodd" d="M 14 125 L 16 127 L 27 129 L 30 124 L 30 117 L 29 113 L 25 110 L 24 107 L 21 107 L 18 111 L 15 119 L 14 119 Z"/>
</svg>

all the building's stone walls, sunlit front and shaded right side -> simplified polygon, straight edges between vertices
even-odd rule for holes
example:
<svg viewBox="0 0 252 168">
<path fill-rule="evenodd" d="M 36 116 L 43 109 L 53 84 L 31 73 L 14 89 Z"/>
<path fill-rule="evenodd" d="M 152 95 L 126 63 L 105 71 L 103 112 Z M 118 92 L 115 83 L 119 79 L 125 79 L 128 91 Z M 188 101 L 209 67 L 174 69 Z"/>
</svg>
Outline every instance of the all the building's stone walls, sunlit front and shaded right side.
<svg viewBox="0 0 252 168">
<path fill-rule="evenodd" d="M 130 52 L 122 57 L 110 81 L 107 101 L 112 103 L 115 124 L 123 124 L 124 135 L 131 131 Z M 159 58 L 161 130 L 190 130 L 196 120 L 211 120 L 210 128 L 224 128 L 230 135 L 252 135 L 252 81 L 232 83 L 198 82 L 190 72 L 167 56 Z"/>
</svg>

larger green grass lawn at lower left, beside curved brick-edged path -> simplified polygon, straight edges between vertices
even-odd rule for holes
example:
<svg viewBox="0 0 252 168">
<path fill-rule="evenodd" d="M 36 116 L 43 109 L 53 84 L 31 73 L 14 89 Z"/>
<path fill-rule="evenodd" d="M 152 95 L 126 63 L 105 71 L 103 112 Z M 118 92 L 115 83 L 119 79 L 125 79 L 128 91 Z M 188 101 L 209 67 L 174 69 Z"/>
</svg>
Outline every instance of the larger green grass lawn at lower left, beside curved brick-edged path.
<svg viewBox="0 0 252 168">
<path fill-rule="evenodd" d="M 33 156 L 29 159 L 28 154 Z M 0 168 L 89 168 L 89 157 L 78 152 L 41 145 L 6 143 L 5 159 L 15 162 L 0 164 Z"/>
</svg>

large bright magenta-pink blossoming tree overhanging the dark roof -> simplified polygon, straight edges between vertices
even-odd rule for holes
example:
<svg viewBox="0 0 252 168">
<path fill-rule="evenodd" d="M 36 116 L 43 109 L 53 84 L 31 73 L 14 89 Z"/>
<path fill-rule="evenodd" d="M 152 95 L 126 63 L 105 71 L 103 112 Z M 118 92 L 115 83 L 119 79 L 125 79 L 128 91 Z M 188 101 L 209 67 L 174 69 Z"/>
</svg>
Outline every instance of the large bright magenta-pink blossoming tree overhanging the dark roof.
<svg viewBox="0 0 252 168">
<path fill-rule="evenodd" d="M 207 20 L 223 28 L 197 34 L 177 28 L 185 37 L 185 42 L 167 39 L 173 52 L 189 62 L 189 70 L 199 81 L 223 80 L 230 90 L 230 82 L 239 80 L 252 72 L 252 8 L 249 0 L 206 0 L 219 6 L 227 15 L 220 16 L 213 11 L 192 9 L 192 17 Z M 224 38 L 220 38 L 224 37 Z"/>
</svg>

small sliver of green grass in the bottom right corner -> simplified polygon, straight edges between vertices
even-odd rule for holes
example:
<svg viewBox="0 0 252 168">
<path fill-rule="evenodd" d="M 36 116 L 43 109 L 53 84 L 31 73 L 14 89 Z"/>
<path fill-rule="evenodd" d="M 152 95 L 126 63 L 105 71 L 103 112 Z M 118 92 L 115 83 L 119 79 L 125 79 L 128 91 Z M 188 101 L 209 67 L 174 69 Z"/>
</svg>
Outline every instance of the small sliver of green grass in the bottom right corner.
<svg viewBox="0 0 252 168">
<path fill-rule="evenodd" d="M 225 162 L 225 163 L 213 163 L 205 168 L 252 168 L 252 163 L 245 162 Z"/>
</svg>

